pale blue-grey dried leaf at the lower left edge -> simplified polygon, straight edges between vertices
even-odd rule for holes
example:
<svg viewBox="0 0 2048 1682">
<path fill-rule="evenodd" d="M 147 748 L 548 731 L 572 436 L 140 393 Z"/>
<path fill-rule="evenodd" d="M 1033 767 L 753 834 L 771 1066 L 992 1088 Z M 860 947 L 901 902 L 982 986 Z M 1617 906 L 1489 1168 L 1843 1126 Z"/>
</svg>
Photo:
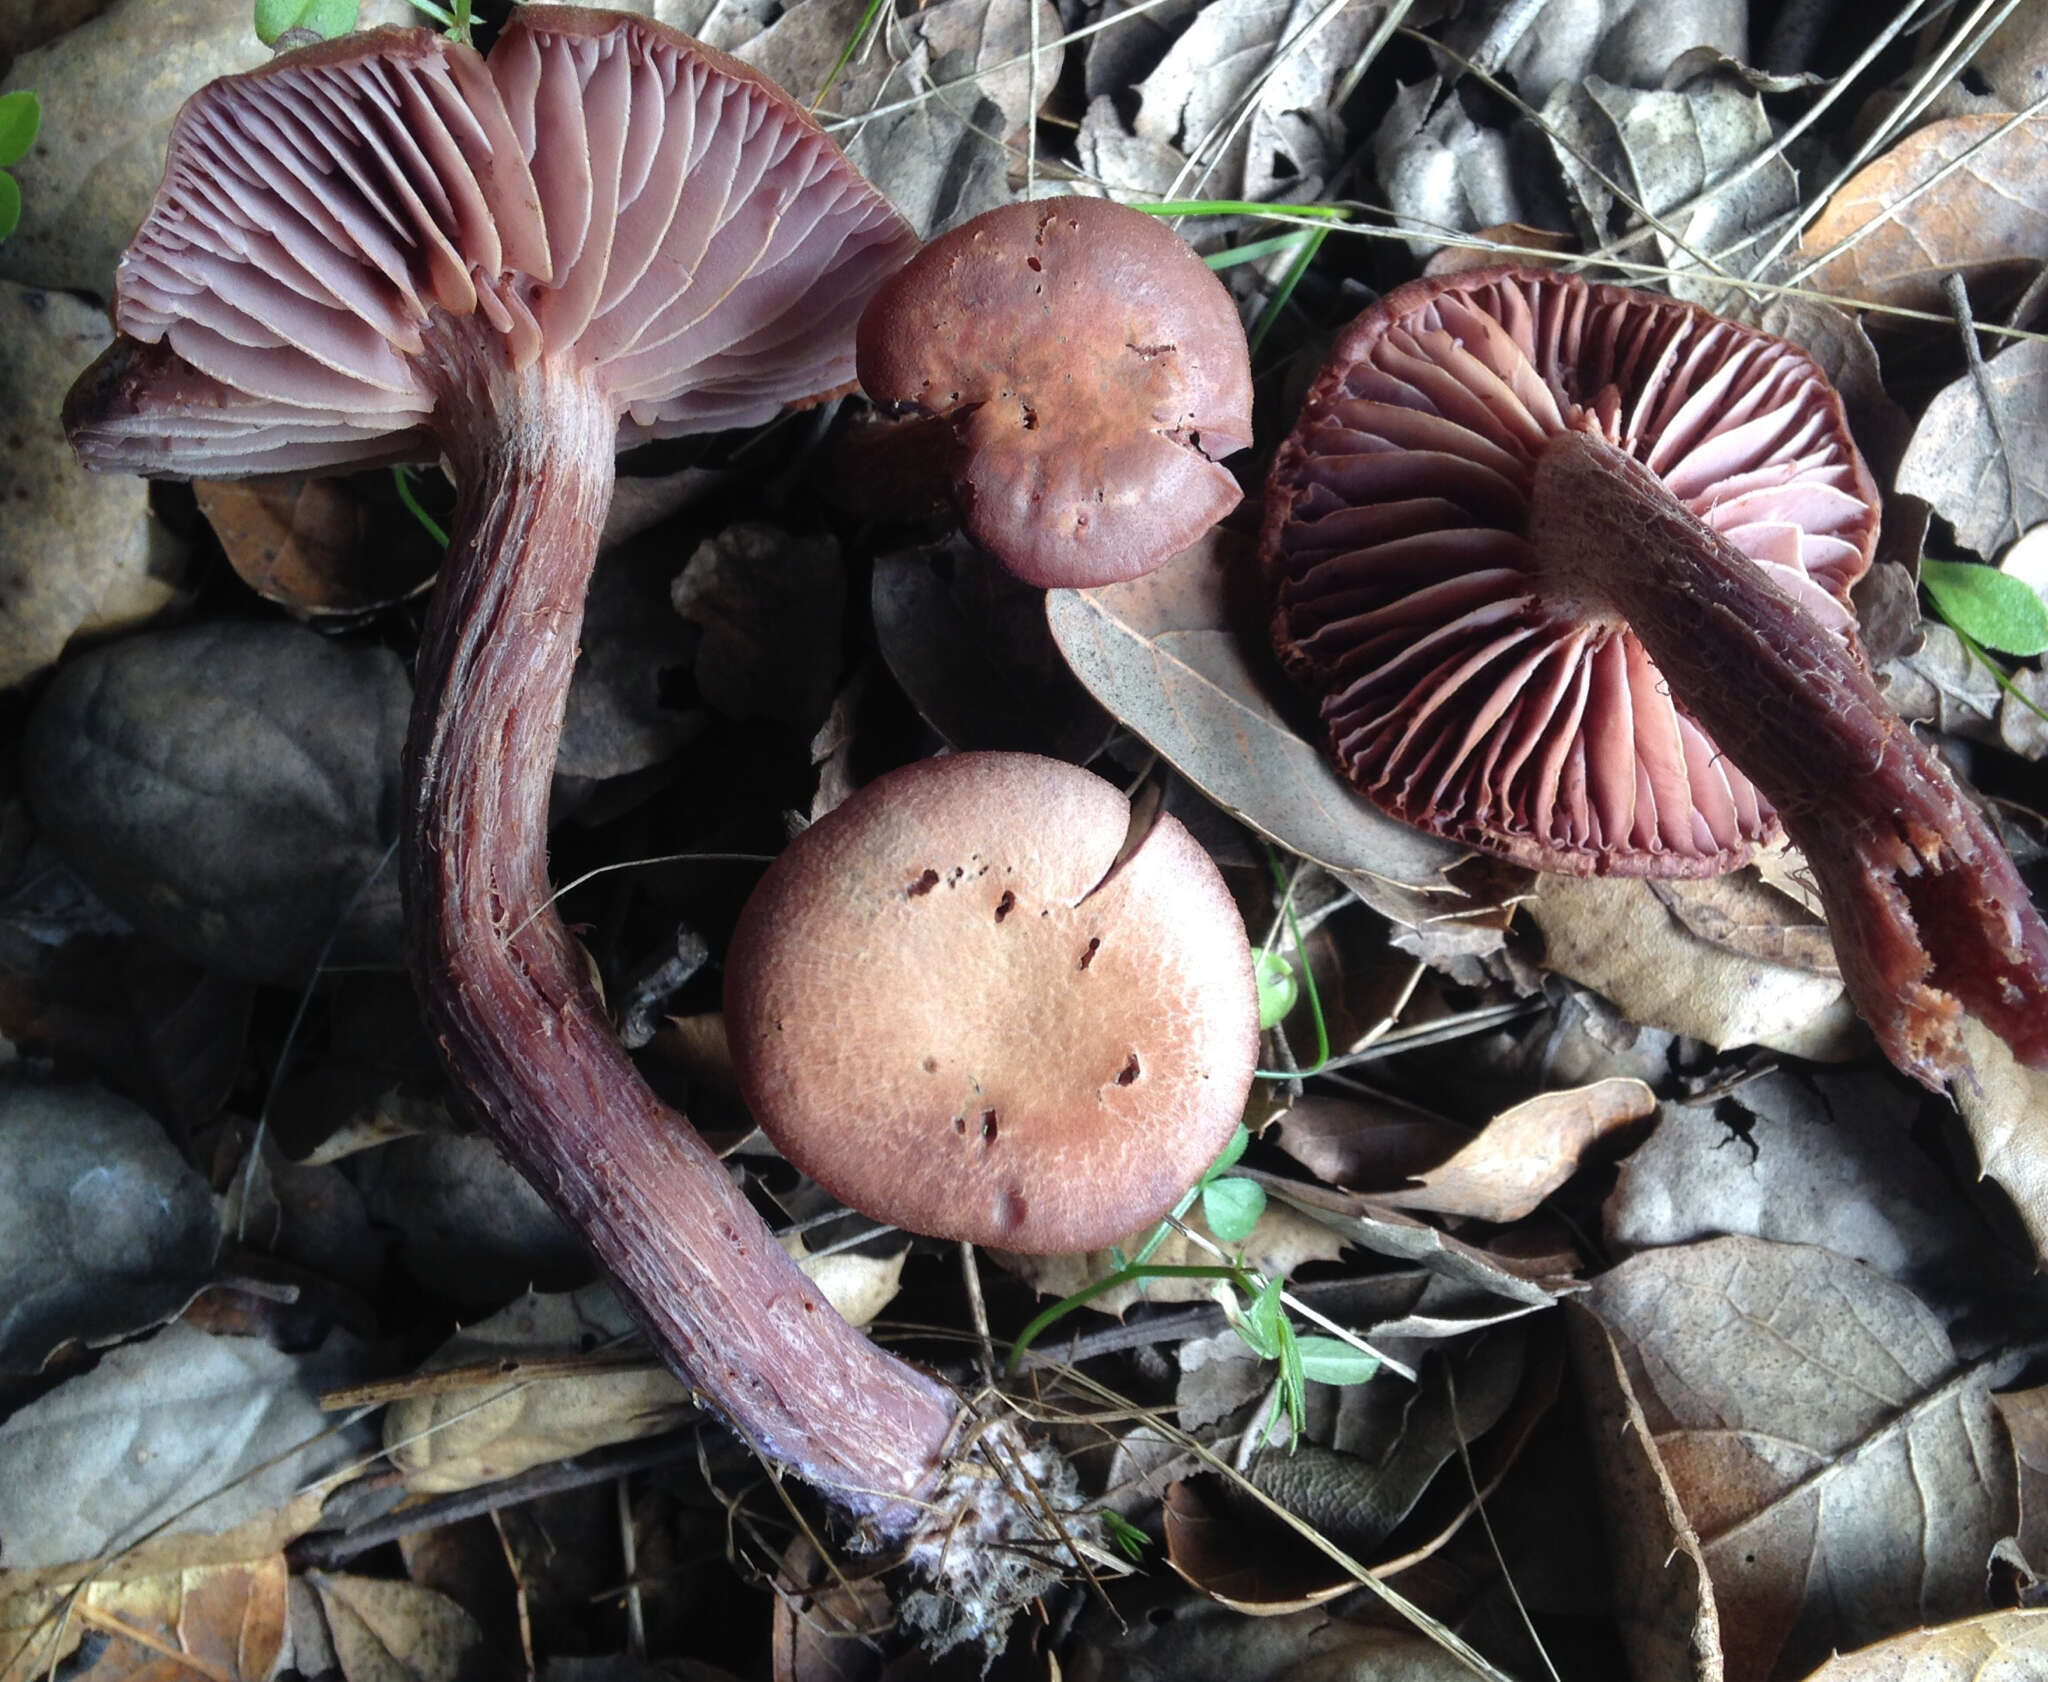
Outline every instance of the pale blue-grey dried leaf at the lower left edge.
<svg viewBox="0 0 2048 1682">
<path fill-rule="evenodd" d="M 0 1424 L 0 1489 L 37 1491 L 33 1508 L 0 1508 L 0 1557 L 57 1565 L 166 1520 L 227 1530 L 276 1512 L 354 1461 L 360 1430 L 332 1430 L 317 1397 L 360 1366 L 340 1332 L 291 1356 L 172 1323 L 109 1352 Z"/>
</svg>

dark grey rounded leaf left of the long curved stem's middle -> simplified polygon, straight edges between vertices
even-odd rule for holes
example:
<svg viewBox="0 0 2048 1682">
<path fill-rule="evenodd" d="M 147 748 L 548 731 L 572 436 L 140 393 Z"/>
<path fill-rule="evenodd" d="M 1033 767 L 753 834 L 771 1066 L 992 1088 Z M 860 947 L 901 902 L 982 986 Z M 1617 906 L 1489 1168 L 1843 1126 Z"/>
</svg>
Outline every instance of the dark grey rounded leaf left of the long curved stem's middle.
<svg viewBox="0 0 2048 1682">
<path fill-rule="evenodd" d="M 195 963 L 248 981 L 395 967 L 410 707 L 389 649 L 293 625 L 160 631 L 57 674 L 23 781 L 66 860 Z"/>
</svg>

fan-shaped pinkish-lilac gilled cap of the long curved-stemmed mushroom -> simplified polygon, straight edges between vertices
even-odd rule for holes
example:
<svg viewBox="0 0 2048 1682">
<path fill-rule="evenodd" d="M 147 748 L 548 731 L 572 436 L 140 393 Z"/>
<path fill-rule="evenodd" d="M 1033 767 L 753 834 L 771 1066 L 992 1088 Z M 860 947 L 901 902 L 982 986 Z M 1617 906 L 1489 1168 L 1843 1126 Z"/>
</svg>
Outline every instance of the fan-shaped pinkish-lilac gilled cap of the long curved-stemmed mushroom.
<svg viewBox="0 0 2048 1682">
<path fill-rule="evenodd" d="M 379 29 L 209 82 L 68 404 L 94 467 L 432 459 L 477 346 L 573 356 L 621 447 L 852 379 L 909 225 L 772 82 L 686 35 L 520 6 L 485 64 Z"/>
</svg>

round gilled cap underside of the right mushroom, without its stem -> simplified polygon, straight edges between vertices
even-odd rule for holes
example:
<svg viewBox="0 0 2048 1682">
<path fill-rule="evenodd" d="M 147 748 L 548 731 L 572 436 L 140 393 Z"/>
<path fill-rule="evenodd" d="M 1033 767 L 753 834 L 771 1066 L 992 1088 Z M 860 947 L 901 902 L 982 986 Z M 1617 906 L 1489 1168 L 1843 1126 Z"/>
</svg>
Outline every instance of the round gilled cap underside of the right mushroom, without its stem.
<svg viewBox="0 0 2048 1682">
<path fill-rule="evenodd" d="M 1536 570 L 1532 473 L 1571 430 L 1855 645 L 1878 494 L 1812 359 L 1518 268 L 1415 281 L 1339 336 L 1266 486 L 1274 645 L 1395 817 L 1546 871 L 1716 875 L 1778 815 L 1634 633 Z"/>
</svg>

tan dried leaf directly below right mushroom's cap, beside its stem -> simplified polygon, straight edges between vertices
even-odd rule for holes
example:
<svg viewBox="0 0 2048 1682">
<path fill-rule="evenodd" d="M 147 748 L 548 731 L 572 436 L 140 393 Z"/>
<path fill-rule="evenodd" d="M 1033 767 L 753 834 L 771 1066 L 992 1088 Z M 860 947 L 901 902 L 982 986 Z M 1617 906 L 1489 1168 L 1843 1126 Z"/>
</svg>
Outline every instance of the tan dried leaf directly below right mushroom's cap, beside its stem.
<svg viewBox="0 0 2048 1682">
<path fill-rule="evenodd" d="M 1819 1061 L 1866 1045 L 1841 981 L 1702 940 L 1645 881 L 1538 877 L 1528 914 L 1544 934 L 1544 963 L 1634 1022 Z"/>
</svg>

